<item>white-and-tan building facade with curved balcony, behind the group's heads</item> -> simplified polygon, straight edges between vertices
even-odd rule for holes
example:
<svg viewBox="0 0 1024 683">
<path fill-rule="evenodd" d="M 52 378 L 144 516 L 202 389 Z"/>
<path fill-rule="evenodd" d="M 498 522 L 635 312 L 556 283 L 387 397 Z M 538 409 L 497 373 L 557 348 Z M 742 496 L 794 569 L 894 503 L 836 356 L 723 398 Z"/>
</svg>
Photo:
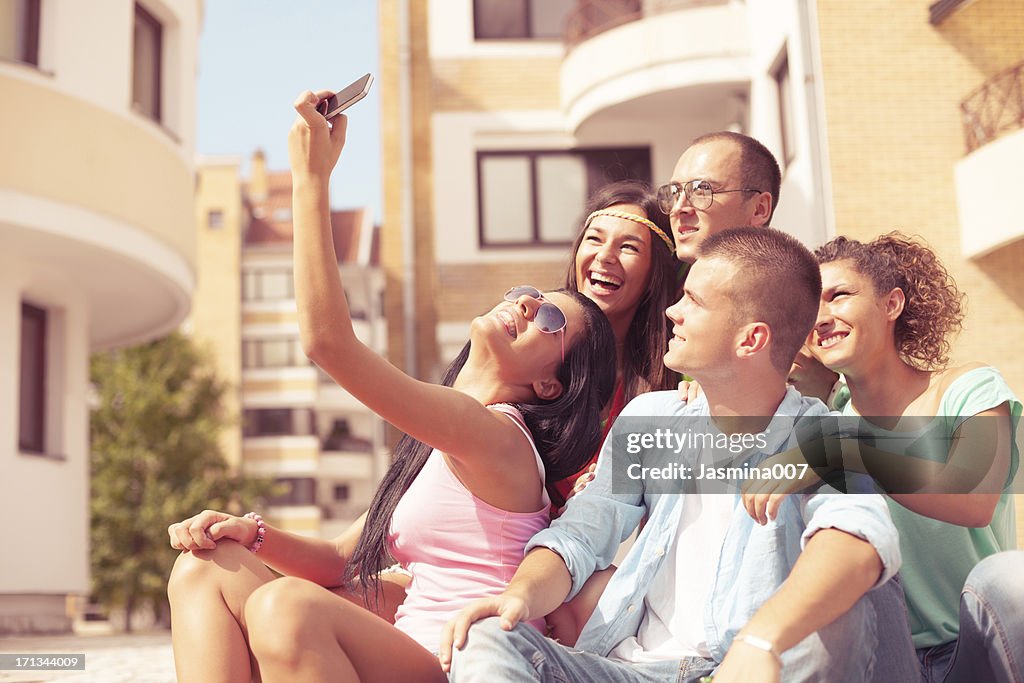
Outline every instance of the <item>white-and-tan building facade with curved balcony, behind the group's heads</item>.
<svg viewBox="0 0 1024 683">
<path fill-rule="evenodd" d="M 436 378 L 510 285 L 559 285 L 587 196 L 689 140 L 784 163 L 774 223 L 830 233 L 814 35 L 796 0 L 383 0 L 392 360 Z M 412 340 L 403 345 L 406 340 Z"/>
</svg>

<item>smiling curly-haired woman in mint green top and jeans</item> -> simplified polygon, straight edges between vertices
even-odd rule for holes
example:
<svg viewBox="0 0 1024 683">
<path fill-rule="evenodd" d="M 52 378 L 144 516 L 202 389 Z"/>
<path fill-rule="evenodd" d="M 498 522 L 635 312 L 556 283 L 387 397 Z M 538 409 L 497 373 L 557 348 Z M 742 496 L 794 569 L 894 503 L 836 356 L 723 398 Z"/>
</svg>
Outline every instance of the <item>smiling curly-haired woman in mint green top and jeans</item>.
<svg viewBox="0 0 1024 683">
<path fill-rule="evenodd" d="M 933 488 L 959 490 L 962 481 L 943 479 L 954 469 L 976 471 L 980 482 L 971 494 L 887 486 L 922 679 L 1022 681 L 1024 553 L 1004 552 L 1015 547 L 1009 482 L 1021 401 L 994 368 L 947 367 L 961 295 L 930 249 L 892 233 L 868 244 L 839 238 L 816 256 L 823 288 L 811 348 L 846 376 L 844 413 L 904 443 L 907 422 L 945 418 L 912 433 L 906 454 L 918 458 L 887 454 L 872 468 L 906 473 L 930 455 L 913 449 L 939 443 L 946 467 Z M 935 431 L 938 440 L 929 438 Z"/>
</svg>

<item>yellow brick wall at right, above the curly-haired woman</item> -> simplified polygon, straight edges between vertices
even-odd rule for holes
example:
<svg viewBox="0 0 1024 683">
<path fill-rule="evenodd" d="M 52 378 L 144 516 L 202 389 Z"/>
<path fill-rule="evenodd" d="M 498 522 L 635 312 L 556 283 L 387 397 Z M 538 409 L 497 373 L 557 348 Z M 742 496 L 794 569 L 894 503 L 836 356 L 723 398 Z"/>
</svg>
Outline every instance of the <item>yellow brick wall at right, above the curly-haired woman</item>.
<svg viewBox="0 0 1024 683">
<path fill-rule="evenodd" d="M 927 5 L 817 3 L 837 230 L 924 237 L 968 297 L 953 364 L 989 362 L 1021 395 L 1024 354 L 1013 340 L 1024 335 L 1024 242 L 961 256 L 953 166 L 966 154 L 961 101 L 1024 60 L 1024 2 L 974 2 L 939 27 Z"/>
</svg>

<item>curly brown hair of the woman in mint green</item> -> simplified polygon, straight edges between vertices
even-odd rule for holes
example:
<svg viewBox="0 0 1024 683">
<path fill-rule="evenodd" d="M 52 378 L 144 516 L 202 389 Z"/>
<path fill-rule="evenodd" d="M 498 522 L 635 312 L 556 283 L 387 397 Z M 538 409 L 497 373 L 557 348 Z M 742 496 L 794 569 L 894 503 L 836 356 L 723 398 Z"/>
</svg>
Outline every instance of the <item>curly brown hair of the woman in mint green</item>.
<svg viewBox="0 0 1024 683">
<path fill-rule="evenodd" d="M 840 237 L 814 256 L 819 264 L 852 261 L 878 294 L 903 290 L 906 302 L 893 333 L 900 358 L 918 370 L 948 364 L 952 337 L 964 327 L 964 294 L 923 241 L 895 231 L 866 244 Z"/>
</svg>

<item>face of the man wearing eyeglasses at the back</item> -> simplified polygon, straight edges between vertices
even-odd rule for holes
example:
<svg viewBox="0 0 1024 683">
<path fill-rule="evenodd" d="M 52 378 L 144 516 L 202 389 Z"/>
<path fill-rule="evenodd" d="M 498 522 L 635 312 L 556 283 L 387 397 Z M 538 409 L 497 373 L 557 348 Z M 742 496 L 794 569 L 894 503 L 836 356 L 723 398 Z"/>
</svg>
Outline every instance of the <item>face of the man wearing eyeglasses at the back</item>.
<svg viewBox="0 0 1024 683">
<path fill-rule="evenodd" d="M 726 139 L 698 142 L 679 158 L 672 181 L 707 180 L 715 190 L 739 189 L 743 185 L 742 150 Z M 762 188 L 757 188 L 762 189 Z M 765 198 L 767 207 L 765 206 Z M 715 194 L 707 209 L 695 209 L 680 195 L 669 221 L 676 242 L 676 257 L 692 263 L 697 248 L 712 234 L 745 225 L 762 226 L 770 217 L 770 195 L 763 193 Z"/>
</svg>

